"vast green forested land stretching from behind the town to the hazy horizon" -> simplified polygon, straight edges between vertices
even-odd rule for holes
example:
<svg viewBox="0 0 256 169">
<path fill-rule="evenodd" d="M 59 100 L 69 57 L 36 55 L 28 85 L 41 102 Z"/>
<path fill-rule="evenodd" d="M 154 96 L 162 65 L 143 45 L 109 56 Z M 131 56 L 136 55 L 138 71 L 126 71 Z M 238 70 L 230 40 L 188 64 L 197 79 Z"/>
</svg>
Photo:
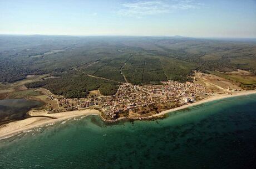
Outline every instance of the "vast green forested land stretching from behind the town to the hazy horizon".
<svg viewBox="0 0 256 169">
<path fill-rule="evenodd" d="M 253 41 L 0 35 L 0 81 L 12 83 L 27 75 L 50 74 L 61 78 L 27 86 L 43 86 L 69 98 L 83 97 L 94 89 L 111 95 L 125 78 L 145 85 L 168 79 L 190 81 L 192 70 L 243 69 L 255 74 L 255 54 Z"/>
</svg>

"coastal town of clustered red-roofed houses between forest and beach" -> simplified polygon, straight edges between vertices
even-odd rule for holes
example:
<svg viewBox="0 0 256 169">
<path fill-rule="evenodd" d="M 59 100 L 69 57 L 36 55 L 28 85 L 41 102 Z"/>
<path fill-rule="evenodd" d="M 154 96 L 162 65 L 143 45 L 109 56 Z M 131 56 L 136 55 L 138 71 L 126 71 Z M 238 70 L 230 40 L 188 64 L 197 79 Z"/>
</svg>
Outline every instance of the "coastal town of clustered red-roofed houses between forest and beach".
<svg viewBox="0 0 256 169">
<path fill-rule="evenodd" d="M 213 94 L 205 85 L 177 81 L 163 81 L 161 85 L 132 85 L 122 83 L 112 96 L 92 95 L 82 99 L 67 99 L 52 94 L 49 100 L 56 100 L 58 107 L 48 108 L 48 113 L 97 109 L 106 120 L 119 117 L 158 114 L 161 111 L 194 103 Z"/>
</svg>

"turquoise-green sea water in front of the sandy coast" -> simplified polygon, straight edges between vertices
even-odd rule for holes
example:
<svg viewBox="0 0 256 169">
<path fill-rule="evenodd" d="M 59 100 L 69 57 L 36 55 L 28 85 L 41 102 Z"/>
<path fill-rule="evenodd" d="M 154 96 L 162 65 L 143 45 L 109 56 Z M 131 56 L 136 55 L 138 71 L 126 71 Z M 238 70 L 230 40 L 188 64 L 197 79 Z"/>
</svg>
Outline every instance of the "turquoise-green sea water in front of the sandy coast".
<svg viewBox="0 0 256 169">
<path fill-rule="evenodd" d="M 256 95 L 154 121 L 58 122 L 0 141 L 0 168 L 255 168 Z"/>
</svg>

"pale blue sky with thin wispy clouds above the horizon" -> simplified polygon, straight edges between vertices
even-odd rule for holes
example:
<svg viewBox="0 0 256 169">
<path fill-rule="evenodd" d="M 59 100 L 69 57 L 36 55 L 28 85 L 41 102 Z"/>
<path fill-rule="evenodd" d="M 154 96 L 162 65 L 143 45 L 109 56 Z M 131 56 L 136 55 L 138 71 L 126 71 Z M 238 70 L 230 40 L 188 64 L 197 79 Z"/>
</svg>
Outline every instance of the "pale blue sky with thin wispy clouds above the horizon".
<svg viewBox="0 0 256 169">
<path fill-rule="evenodd" d="M 256 0 L 0 0 L 0 34 L 256 38 Z"/>
</svg>

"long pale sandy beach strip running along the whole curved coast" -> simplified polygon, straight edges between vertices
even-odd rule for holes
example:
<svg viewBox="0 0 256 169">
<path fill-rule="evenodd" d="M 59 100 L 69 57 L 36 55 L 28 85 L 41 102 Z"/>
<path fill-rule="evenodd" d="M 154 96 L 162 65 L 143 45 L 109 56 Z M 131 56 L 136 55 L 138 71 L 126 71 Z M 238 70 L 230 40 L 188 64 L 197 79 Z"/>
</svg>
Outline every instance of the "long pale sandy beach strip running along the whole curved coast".
<svg viewBox="0 0 256 169">
<path fill-rule="evenodd" d="M 67 120 L 67 119 L 71 119 L 71 118 L 75 118 L 75 117 L 81 117 L 81 116 L 87 116 L 87 115 L 99 115 L 101 117 L 101 119 L 106 122 L 116 122 L 116 121 L 119 121 L 122 119 L 150 120 L 152 118 L 160 117 L 165 114 L 168 114 L 169 112 L 186 109 L 190 106 L 208 103 L 209 101 L 221 100 L 221 99 L 225 99 L 225 98 L 232 98 L 235 96 L 243 96 L 243 95 L 250 95 L 250 94 L 256 94 L 256 90 L 239 91 L 239 92 L 233 93 L 233 94 L 210 96 L 209 98 L 197 101 L 195 103 L 186 104 L 186 105 L 183 105 L 180 107 L 176 107 L 174 109 L 162 111 L 159 114 L 155 114 L 155 115 L 151 115 L 151 116 L 147 116 L 147 117 L 120 117 L 119 119 L 116 119 L 116 120 L 103 119 L 100 115 L 100 111 L 95 110 L 95 109 L 66 111 L 66 112 L 59 112 L 56 114 L 47 114 L 47 112 L 45 112 L 45 114 L 42 114 L 42 112 L 40 112 L 40 115 L 46 115 L 48 117 L 56 117 L 56 119 L 35 116 L 35 117 L 30 117 L 28 119 L 20 120 L 20 121 L 10 122 L 6 125 L 0 126 L 0 140 L 20 134 L 22 132 L 26 132 L 27 130 L 33 129 L 35 127 L 40 127 L 40 126 L 44 126 L 47 124 L 55 123 L 57 121 Z M 37 114 L 34 114 L 34 115 L 37 115 Z"/>
</svg>

